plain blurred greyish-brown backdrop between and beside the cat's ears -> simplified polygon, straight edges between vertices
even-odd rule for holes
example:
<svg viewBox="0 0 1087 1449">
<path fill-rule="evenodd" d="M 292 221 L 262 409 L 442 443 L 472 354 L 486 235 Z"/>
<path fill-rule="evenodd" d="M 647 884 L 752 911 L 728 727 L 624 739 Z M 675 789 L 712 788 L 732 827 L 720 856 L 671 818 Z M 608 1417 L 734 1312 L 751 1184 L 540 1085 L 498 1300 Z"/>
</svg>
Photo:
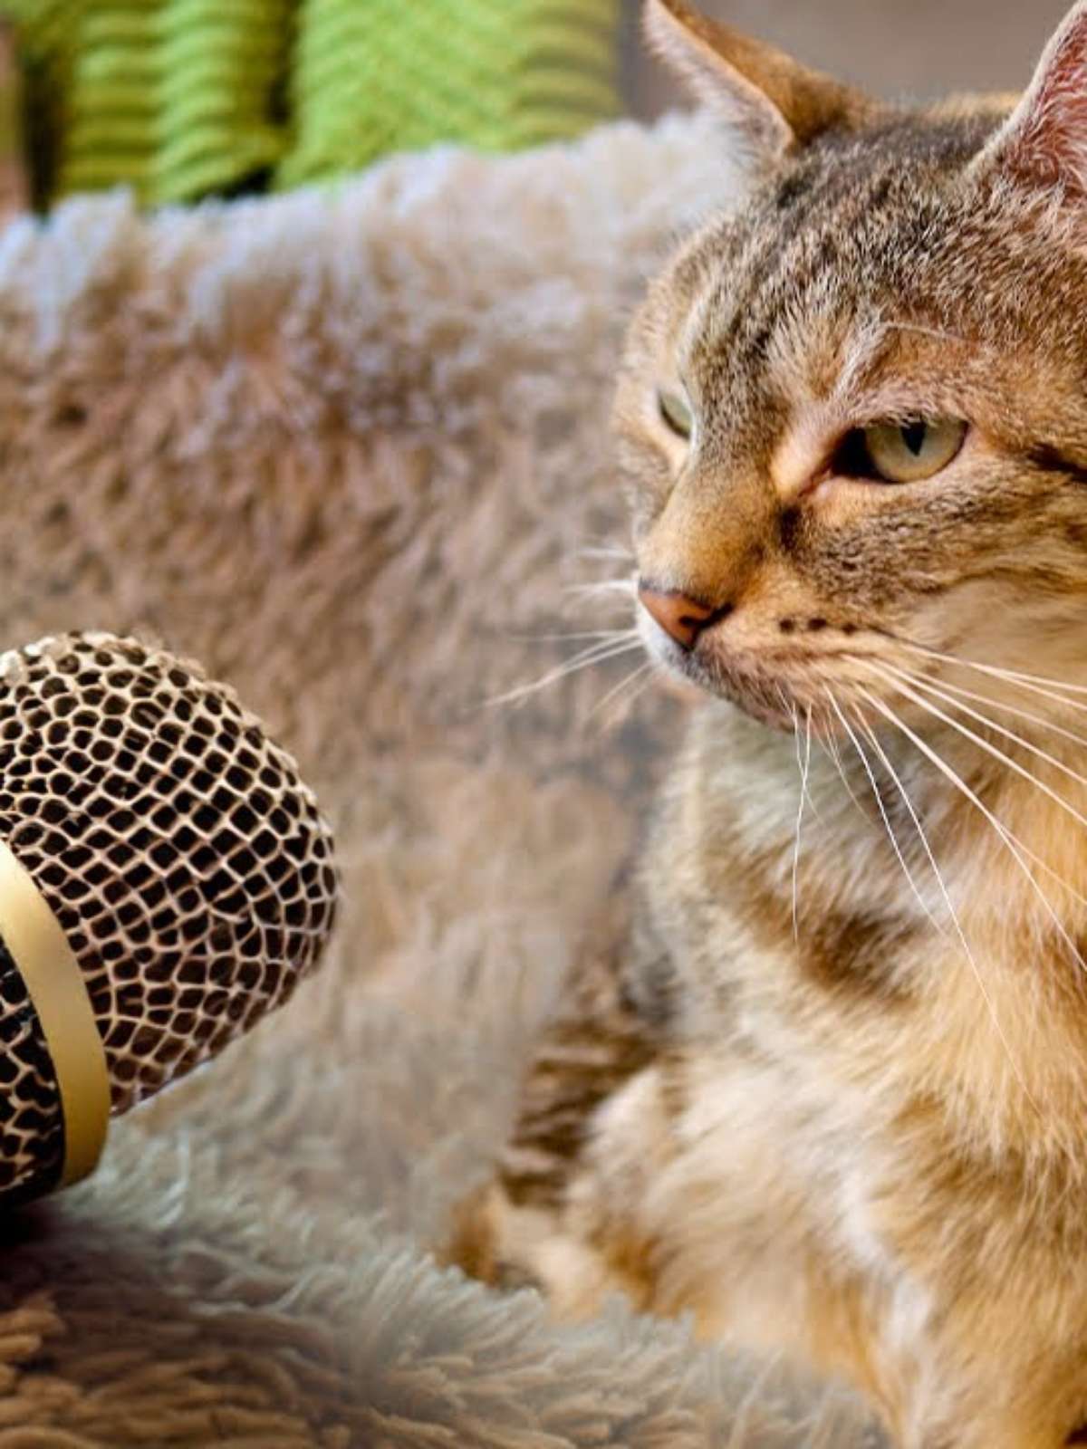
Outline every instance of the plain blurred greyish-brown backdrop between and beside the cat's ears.
<svg viewBox="0 0 1087 1449">
<path fill-rule="evenodd" d="M 887 97 L 1022 90 L 1071 0 L 699 0 L 700 9 Z M 681 103 L 622 0 L 623 93 L 651 117 Z"/>
</svg>

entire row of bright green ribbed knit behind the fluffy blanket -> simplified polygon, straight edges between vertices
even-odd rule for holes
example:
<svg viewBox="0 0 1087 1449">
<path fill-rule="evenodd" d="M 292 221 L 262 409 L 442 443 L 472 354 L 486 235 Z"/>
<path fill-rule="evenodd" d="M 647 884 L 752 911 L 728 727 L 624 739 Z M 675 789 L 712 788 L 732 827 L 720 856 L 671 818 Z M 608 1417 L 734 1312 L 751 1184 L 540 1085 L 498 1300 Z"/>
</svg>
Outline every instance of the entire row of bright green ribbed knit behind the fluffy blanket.
<svg viewBox="0 0 1087 1449">
<path fill-rule="evenodd" d="M 613 116 L 619 0 L 4 0 L 41 200 L 145 203 L 506 151 Z"/>
</svg>

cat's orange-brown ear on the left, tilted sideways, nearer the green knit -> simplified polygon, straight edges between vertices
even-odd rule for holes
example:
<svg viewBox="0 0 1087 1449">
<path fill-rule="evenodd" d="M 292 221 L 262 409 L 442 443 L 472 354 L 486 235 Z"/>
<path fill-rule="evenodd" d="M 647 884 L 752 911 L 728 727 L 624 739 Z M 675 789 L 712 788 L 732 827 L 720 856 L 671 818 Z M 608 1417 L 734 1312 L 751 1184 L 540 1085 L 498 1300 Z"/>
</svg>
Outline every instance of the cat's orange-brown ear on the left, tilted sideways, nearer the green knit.
<svg viewBox="0 0 1087 1449">
<path fill-rule="evenodd" d="M 878 110 L 861 91 L 710 20 L 687 0 L 645 0 L 644 19 L 651 48 L 770 158 L 825 130 L 862 125 Z"/>
</svg>

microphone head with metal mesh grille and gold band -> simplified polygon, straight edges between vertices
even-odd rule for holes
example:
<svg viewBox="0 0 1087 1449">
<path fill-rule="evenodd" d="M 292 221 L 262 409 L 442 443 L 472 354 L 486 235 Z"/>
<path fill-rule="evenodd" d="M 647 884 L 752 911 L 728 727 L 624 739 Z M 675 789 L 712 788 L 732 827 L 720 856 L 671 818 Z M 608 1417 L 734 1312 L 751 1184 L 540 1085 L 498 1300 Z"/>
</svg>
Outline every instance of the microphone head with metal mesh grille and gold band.
<svg viewBox="0 0 1087 1449">
<path fill-rule="evenodd" d="M 104 633 L 0 655 L 0 1208 L 287 1001 L 336 895 L 313 794 L 228 685 Z"/>
</svg>

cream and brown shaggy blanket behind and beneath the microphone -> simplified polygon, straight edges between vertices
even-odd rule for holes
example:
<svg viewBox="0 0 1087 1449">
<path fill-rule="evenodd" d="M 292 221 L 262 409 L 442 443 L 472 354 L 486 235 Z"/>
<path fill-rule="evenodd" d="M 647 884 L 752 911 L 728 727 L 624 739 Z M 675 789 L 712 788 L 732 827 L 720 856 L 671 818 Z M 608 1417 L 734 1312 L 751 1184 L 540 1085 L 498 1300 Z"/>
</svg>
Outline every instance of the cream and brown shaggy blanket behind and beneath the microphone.
<svg viewBox="0 0 1087 1449">
<path fill-rule="evenodd" d="M 332 816 L 348 900 L 286 1011 L 0 1224 L 0 1449 L 870 1440 L 846 1395 L 684 1324 L 557 1327 L 426 1252 L 678 709 L 610 719 L 636 655 L 486 701 L 623 620 L 578 588 L 625 568 L 617 339 L 733 187 L 674 119 L 0 238 L 3 645 L 139 630 L 230 680 Z"/>
</svg>

